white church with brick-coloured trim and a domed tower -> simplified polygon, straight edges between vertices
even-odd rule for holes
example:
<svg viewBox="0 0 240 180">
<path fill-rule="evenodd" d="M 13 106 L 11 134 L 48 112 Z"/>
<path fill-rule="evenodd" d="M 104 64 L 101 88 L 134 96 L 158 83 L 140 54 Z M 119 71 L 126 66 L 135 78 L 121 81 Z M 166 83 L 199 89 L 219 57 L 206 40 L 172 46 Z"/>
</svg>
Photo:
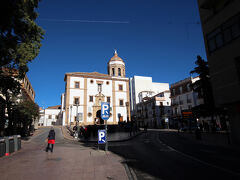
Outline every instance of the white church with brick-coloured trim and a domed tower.
<svg viewBox="0 0 240 180">
<path fill-rule="evenodd" d="M 65 93 L 62 94 L 62 125 L 104 124 L 101 102 L 110 103 L 108 124 L 129 121 L 129 79 L 125 63 L 115 51 L 108 62 L 108 74 L 98 72 L 66 73 Z"/>
</svg>

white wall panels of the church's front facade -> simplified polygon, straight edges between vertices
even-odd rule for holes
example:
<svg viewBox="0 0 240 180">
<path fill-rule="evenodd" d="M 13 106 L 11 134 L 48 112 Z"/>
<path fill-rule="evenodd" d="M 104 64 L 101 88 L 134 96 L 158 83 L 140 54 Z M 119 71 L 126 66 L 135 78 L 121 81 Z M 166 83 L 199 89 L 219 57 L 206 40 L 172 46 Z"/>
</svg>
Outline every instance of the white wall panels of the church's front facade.
<svg viewBox="0 0 240 180">
<path fill-rule="evenodd" d="M 127 79 L 127 78 L 123 78 L 123 79 Z M 76 89 L 74 88 L 74 82 L 80 82 L 80 88 Z M 91 82 L 93 81 L 93 83 Z M 87 88 L 87 119 L 86 121 L 88 123 L 92 123 L 93 120 L 93 116 L 95 116 L 93 114 L 93 105 L 96 103 L 95 102 L 95 96 L 99 94 L 98 92 L 98 84 L 97 81 L 102 82 L 102 94 L 105 96 L 104 97 L 104 101 L 107 102 L 107 97 L 110 97 L 111 102 L 110 102 L 110 107 L 113 107 L 113 90 L 112 90 L 112 80 L 109 79 L 97 79 L 97 78 L 87 78 L 87 87 L 84 87 L 84 78 L 83 77 L 71 77 L 70 76 L 70 90 L 69 90 L 69 105 L 71 107 L 72 105 L 72 109 L 69 109 L 69 116 L 68 119 L 71 119 L 71 122 L 74 122 L 74 117 L 78 113 L 84 113 L 84 89 Z M 123 120 L 127 120 L 127 109 L 126 109 L 126 102 L 127 102 L 127 83 L 126 81 L 118 81 L 116 79 L 114 79 L 115 81 L 115 102 L 116 102 L 116 120 L 118 122 L 119 118 L 118 118 L 118 113 L 121 114 L 121 116 L 123 116 Z M 108 84 L 107 84 L 108 82 Z M 119 85 L 123 86 L 123 90 L 120 91 L 119 90 Z M 89 102 L 90 96 L 93 96 L 93 102 Z M 74 105 L 74 97 L 79 97 L 80 98 L 80 104 L 78 106 L 78 110 L 76 105 Z M 119 99 L 123 100 L 123 106 L 120 107 L 119 106 Z M 92 116 L 88 116 L 88 113 L 92 113 Z M 113 111 L 111 111 L 112 115 L 113 115 Z M 65 116 L 64 116 L 65 117 Z M 84 117 L 84 114 L 83 114 Z M 64 118 L 64 123 L 65 124 L 65 118 Z M 109 118 L 108 122 L 113 122 L 113 116 Z"/>
</svg>

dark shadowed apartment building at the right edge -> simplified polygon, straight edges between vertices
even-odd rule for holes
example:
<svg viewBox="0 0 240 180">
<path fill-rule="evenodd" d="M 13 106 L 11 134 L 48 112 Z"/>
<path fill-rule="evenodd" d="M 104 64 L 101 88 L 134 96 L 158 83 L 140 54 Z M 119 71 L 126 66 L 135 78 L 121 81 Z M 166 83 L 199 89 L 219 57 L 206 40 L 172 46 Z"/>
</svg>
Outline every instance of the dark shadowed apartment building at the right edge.
<svg viewBox="0 0 240 180">
<path fill-rule="evenodd" d="M 232 142 L 240 145 L 240 1 L 198 5 L 215 105 L 228 110 Z"/>
</svg>

